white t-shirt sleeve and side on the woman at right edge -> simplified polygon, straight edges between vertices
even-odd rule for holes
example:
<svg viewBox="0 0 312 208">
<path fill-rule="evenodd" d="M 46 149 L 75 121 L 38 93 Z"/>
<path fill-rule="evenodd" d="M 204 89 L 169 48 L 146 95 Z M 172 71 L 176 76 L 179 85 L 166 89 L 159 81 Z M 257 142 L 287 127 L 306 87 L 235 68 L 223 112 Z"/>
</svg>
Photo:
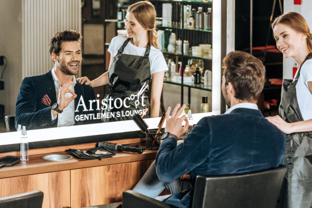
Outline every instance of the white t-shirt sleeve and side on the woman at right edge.
<svg viewBox="0 0 312 208">
<path fill-rule="evenodd" d="M 298 71 L 296 72 L 297 76 Z M 297 100 L 303 120 L 312 119 L 312 94 L 308 82 L 312 81 L 312 59 L 306 60 L 301 67 L 300 76 L 296 84 Z"/>
</svg>

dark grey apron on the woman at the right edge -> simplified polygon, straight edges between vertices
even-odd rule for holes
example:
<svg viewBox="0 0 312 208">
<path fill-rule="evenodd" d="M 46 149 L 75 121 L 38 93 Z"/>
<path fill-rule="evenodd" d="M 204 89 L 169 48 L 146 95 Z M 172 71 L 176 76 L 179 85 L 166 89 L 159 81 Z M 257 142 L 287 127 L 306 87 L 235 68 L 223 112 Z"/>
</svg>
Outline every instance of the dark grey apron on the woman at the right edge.
<svg viewBox="0 0 312 208">
<path fill-rule="evenodd" d="M 306 57 L 305 61 L 311 58 L 312 53 Z M 302 65 L 294 81 L 292 79 L 283 80 L 279 114 L 288 123 L 303 121 L 296 96 L 296 84 Z M 312 208 L 311 157 L 312 132 L 287 135 L 285 153 L 285 162 L 287 163 L 286 193 L 282 202 L 282 204 L 285 203 L 285 208 Z"/>
</svg>

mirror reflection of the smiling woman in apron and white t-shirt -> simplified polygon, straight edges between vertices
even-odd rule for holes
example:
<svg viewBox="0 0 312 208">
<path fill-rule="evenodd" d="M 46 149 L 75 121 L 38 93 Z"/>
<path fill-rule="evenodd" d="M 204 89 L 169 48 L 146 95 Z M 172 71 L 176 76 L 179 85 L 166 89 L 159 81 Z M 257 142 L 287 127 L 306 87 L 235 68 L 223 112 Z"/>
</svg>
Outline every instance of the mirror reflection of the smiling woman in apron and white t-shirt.
<svg viewBox="0 0 312 208">
<path fill-rule="evenodd" d="M 140 1 L 130 5 L 125 18 L 127 36 L 113 38 L 108 49 L 111 53 L 109 71 L 93 81 L 90 81 L 87 77 L 81 77 L 78 81 L 80 83 L 86 82 L 87 85 L 92 87 L 109 83 L 110 92 L 105 98 L 112 97 L 114 100 L 116 98 L 124 100 L 130 95 L 137 95 L 145 83 L 144 88 L 148 85 L 152 76 L 150 113 L 151 117 L 158 117 L 164 71 L 168 67 L 157 46 L 155 21 L 156 11 L 152 3 Z M 145 92 L 148 90 L 147 87 Z M 147 96 L 145 96 L 144 103 L 142 103 L 142 95 L 140 95 L 140 102 L 137 107 L 135 105 L 137 98 L 135 98 L 135 100 L 130 100 L 126 107 L 123 105 L 119 109 L 116 109 L 116 107 L 110 109 L 108 105 L 105 113 L 149 108 Z M 109 119 L 109 121 L 114 120 L 120 120 L 120 118 Z"/>
</svg>

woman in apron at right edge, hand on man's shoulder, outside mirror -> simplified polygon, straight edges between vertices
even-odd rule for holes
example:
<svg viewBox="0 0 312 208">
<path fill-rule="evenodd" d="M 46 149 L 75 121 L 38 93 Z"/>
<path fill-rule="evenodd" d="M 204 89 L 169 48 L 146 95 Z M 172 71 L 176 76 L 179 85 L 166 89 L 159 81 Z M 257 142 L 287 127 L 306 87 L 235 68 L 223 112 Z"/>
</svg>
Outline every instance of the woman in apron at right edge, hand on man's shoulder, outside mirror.
<svg viewBox="0 0 312 208">
<path fill-rule="evenodd" d="M 274 38 L 284 57 L 292 57 L 299 70 L 284 79 L 280 116 L 268 117 L 287 133 L 287 208 L 312 206 L 312 34 L 307 21 L 290 12 L 274 20 Z"/>
</svg>

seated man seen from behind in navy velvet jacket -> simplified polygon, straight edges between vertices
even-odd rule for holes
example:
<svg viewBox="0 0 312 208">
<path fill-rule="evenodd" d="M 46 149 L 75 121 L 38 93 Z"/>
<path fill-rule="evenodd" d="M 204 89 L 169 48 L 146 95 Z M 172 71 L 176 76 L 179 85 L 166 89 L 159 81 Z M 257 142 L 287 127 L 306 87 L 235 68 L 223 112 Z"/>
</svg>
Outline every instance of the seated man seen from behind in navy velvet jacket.
<svg viewBox="0 0 312 208">
<path fill-rule="evenodd" d="M 167 187 L 173 193 L 165 200 L 167 204 L 189 208 L 193 188 L 185 189 L 181 175 L 190 172 L 191 184 L 195 185 L 197 175 L 267 170 L 283 164 L 285 134 L 268 122 L 256 105 L 265 81 L 263 64 L 250 54 L 235 51 L 222 65 L 222 94 L 231 108 L 225 114 L 202 118 L 184 143 L 176 146 L 177 138 L 188 129 L 186 116 L 179 118 L 185 105 L 180 109 L 176 105 L 171 117 L 169 107 L 156 162 L 134 191 L 156 197 Z"/>
</svg>

